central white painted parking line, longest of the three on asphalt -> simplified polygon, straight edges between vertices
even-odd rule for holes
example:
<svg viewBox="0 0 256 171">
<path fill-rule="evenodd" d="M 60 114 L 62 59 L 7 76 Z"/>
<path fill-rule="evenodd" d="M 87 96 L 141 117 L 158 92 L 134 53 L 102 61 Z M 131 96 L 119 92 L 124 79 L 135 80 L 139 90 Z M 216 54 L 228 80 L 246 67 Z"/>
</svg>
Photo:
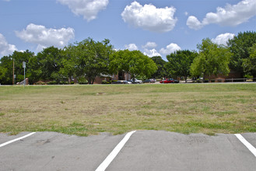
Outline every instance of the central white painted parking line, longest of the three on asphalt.
<svg viewBox="0 0 256 171">
<path fill-rule="evenodd" d="M 96 171 L 103 171 L 107 169 L 107 166 L 110 165 L 110 162 L 112 162 L 113 159 L 117 156 L 117 154 L 121 151 L 121 148 L 124 147 L 125 143 L 128 141 L 128 139 L 132 136 L 133 133 L 135 133 L 135 131 L 128 132 L 125 135 L 125 137 L 119 142 L 119 144 L 114 148 L 114 150 L 110 152 L 109 155 L 107 155 L 107 158 L 100 164 Z"/>
</svg>

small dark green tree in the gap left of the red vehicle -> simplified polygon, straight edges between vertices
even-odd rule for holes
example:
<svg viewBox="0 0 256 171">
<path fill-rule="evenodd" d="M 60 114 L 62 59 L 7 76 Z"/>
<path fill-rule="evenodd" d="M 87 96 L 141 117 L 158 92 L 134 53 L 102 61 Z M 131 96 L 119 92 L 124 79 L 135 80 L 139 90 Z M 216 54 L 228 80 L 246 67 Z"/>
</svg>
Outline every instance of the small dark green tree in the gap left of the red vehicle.
<svg viewBox="0 0 256 171">
<path fill-rule="evenodd" d="M 156 79 L 162 79 L 163 77 L 167 77 L 167 68 L 166 68 L 166 64 L 167 61 L 164 61 L 162 57 L 160 56 L 155 56 L 151 58 L 157 66 L 157 70 L 155 73 L 153 73 L 153 75 L 151 76 L 152 78 L 156 78 Z"/>
</svg>

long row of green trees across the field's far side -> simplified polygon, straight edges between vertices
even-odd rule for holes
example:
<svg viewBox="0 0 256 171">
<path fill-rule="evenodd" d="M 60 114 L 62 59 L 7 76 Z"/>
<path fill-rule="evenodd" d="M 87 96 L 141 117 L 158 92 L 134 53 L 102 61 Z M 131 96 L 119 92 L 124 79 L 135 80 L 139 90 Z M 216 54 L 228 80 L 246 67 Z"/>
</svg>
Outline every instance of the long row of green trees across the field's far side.
<svg viewBox="0 0 256 171">
<path fill-rule="evenodd" d="M 149 58 L 141 51 L 114 51 L 110 40 L 95 41 L 87 38 L 69 44 L 63 49 L 47 47 L 38 54 L 31 51 L 14 51 L 0 59 L 0 83 L 10 85 L 12 76 L 16 82 L 23 81 L 23 61 L 30 84 L 38 81 L 68 81 L 72 78 L 93 84 L 96 76 L 126 72 L 132 78 L 149 79 L 190 76 L 203 77 L 227 75 L 230 69 L 241 77 L 256 78 L 256 33 L 244 32 L 229 40 L 227 46 L 214 44 L 209 38 L 198 44 L 198 51 L 175 51 L 161 57 Z M 13 68 L 14 65 L 14 68 Z M 14 72 L 13 72 L 14 69 Z"/>
</svg>

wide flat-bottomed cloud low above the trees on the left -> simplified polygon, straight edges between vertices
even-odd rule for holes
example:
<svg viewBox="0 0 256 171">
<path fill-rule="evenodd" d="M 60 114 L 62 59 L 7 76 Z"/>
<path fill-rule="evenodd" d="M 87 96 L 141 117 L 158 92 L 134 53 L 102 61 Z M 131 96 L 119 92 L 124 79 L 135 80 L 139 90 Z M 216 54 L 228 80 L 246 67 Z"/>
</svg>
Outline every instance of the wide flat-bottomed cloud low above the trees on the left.
<svg viewBox="0 0 256 171">
<path fill-rule="evenodd" d="M 16 31 L 16 36 L 26 42 L 37 44 L 37 51 L 40 51 L 44 47 L 65 47 L 68 41 L 75 37 L 75 31 L 69 27 L 59 30 L 47 29 L 45 26 L 31 23 L 25 30 Z"/>
</svg>

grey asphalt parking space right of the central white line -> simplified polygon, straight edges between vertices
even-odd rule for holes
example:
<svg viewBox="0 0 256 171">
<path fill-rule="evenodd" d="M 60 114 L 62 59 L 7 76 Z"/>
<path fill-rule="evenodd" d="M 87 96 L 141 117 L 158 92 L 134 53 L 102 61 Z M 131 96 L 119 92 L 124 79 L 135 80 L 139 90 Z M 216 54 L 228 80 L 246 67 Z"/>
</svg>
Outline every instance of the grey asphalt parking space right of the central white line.
<svg viewBox="0 0 256 171">
<path fill-rule="evenodd" d="M 253 139 L 255 134 L 250 135 Z M 254 139 L 256 136 L 254 136 Z M 255 170 L 256 158 L 233 134 L 137 131 L 107 170 Z"/>
</svg>

